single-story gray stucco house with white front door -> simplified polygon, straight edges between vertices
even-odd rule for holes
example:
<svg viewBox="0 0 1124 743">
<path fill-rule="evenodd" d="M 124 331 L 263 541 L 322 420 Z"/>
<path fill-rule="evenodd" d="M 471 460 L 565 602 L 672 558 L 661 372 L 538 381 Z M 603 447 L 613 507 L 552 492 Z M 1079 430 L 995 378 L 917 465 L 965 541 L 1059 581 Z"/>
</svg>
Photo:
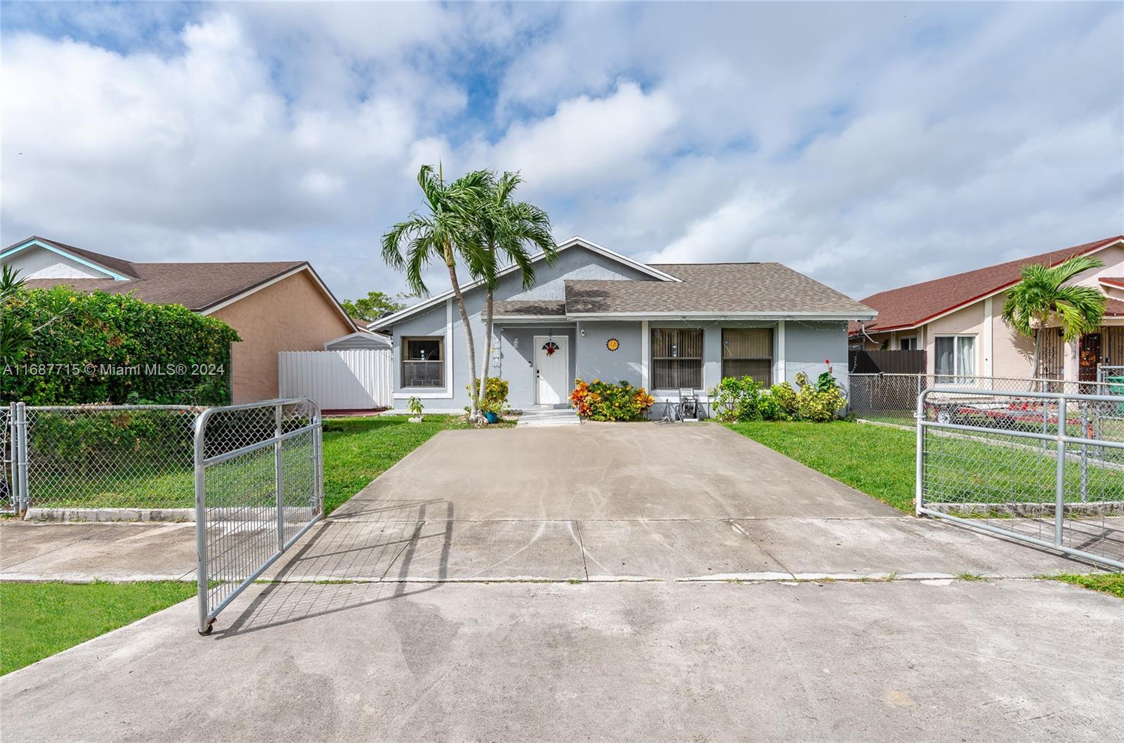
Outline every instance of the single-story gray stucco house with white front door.
<svg viewBox="0 0 1124 743">
<path fill-rule="evenodd" d="M 591 241 L 537 259 L 535 287 L 518 270 L 496 290 L 491 374 L 514 408 L 565 406 L 573 380 L 627 380 L 662 402 L 704 393 L 723 377 L 764 384 L 815 378 L 827 364 L 846 383 L 847 321 L 874 310 L 779 263 L 644 264 Z M 486 293 L 464 287 L 478 354 Z M 372 323 L 395 352 L 395 408 L 416 396 L 429 411 L 469 404 L 464 327 L 452 291 Z M 481 363 L 482 360 L 478 360 Z"/>
</svg>

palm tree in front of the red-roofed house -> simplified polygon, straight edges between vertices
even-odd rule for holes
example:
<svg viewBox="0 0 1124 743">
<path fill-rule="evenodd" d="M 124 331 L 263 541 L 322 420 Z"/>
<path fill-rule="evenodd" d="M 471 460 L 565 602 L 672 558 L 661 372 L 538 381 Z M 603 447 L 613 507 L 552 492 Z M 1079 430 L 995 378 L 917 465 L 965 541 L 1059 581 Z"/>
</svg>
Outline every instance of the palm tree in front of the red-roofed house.
<svg viewBox="0 0 1124 743">
<path fill-rule="evenodd" d="M 1066 286 L 1066 282 L 1103 265 L 1100 259 L 1075 255 L 1053 268 L 1037 263 L 1023 266 L 1022 281 L 1010 288 L 1003 303 L 1003 321 L 1019 335 L 1034 338 L 1033 377 L 1040 375 L 1042 328 L 1058 321 L 1062 337 L 1069 343 L 1100 325 L 1105 296 L 1094 287 Z"/>
</svg>

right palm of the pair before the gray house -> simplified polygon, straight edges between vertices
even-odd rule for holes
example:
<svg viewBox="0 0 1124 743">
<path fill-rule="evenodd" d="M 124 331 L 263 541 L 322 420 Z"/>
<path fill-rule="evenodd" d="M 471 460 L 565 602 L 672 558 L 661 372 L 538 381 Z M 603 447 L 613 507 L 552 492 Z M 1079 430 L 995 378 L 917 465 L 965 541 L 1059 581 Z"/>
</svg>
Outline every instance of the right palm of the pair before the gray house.
<svg viewBox="0 0 1124 743">
<path fill-rule="evenodd" d="M 523 182 L 518 173 L 505 172 L 499 180 L 489 179 L 488 193 L 477 214 L 479 239 L 490 255 L 487 262 L 492 268 L 490 275 L 481 277 L 488 290 L 484 303 L 484 357 L 480 365 L 479 397 L 488 389 L 488 369 L 491 362 L 491 339 L 493 327 L 493 297 L 496 291 L 497 254 L 502 254 L 519 266 L 523 288 L 535 284 L 535 264 L 528 247 L 536 247 L 552 264 L 558 260 L 558 245 L 551 235 L 551 219 L 546 212 L 526 201 L 515 201 L 515 189 Z"/>
</svg>

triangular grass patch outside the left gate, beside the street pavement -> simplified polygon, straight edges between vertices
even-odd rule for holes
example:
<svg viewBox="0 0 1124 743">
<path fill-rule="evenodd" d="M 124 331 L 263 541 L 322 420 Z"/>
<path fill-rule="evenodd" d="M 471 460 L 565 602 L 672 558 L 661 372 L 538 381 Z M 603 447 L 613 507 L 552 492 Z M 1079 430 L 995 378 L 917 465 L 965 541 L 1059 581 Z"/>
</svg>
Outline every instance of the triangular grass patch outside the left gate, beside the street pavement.
<svg viewBox="0 0 1124 743">
<path fill-rule="evenodd" d="M 0 583 L 0 674 L 196 594 L 194 583 Z"/>
</svg>

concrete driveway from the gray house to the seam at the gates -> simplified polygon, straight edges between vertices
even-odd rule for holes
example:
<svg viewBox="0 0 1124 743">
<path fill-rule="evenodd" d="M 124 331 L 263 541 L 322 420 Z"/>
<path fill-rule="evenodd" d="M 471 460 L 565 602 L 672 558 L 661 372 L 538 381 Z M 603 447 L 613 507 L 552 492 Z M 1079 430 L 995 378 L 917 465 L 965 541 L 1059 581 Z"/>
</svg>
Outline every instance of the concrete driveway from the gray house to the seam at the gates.
<svg viewBox="0 0 1124 743">
<path fill-rule="evenodd" d="M 444 432 L 329 522 L 269 574 L 761 580 L 1087 569 L 907 516 L 715 425 Z"/>
</svg>

